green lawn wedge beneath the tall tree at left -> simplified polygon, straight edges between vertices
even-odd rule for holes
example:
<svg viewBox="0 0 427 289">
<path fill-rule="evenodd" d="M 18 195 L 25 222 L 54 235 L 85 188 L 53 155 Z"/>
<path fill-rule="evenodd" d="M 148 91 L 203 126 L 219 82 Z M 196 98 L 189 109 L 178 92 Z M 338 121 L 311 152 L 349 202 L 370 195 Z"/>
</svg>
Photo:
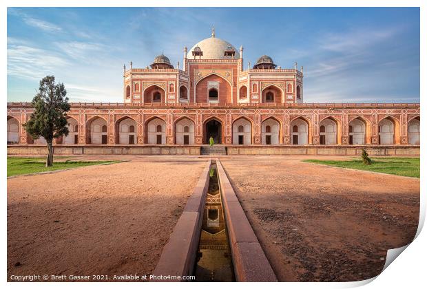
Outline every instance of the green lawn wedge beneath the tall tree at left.
<svg viewBox="0 0 427 289">
<path fill-rule="evenodd" d="M 113 164 L 118 161 L 75 161 L 66 160 L 67 157 L 54 158 L 53 167 L 45 167 L 45 158 L 15 158 L 8 157 L 8 177 L 11 175 L 24 175 L 27 173 L 39 173 L 41 171 L 56 171 L 59 169 L 72 169 L 92 166 L 94 164 Z"/>
</svg>

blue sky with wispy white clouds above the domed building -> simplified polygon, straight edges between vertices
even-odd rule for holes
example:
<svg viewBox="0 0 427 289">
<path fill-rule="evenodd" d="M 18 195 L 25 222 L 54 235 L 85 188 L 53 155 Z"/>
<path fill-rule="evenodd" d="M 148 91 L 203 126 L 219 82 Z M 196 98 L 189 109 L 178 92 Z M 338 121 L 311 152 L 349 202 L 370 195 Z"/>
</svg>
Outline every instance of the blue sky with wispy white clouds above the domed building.
<svg viewBox="0 0 427 289">
<path fill-rule="evenodd" d="M 304 65 L 304 101 L 419 102 L 419 8 L 8 8 L 8 101 L 30 101 L 54 74 L 72 101 L 122 102 L 123 64 L 211 34 Z"/>
</svg>

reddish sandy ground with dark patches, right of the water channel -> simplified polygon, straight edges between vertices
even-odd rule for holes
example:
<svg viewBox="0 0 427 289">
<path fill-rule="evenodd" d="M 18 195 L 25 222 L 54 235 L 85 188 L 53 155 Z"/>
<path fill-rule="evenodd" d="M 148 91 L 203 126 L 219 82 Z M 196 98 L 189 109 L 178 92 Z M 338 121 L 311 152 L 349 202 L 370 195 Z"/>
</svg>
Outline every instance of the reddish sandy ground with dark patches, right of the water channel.
<svg viewBox="0 0 427 289">
<path fill-rule="evenodd" d="M 378 275 L 386 250 L 415 237 L 419 180 L 302 158 L 309 157 L 221 159 L 278 279 L 358 281 Z"/>
</svg>

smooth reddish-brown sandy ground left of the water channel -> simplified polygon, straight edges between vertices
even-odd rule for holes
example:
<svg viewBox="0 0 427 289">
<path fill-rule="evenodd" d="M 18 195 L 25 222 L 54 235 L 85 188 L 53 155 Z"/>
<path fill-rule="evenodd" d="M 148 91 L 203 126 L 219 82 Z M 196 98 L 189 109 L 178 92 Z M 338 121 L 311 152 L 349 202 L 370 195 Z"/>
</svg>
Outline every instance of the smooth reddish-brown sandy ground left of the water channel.
<svg viewBox="0 0 427 289">
<path fill-rule="evenodd" d="M 8 280 L 154 270 L 205 160 L 110 159 L 8 180 Z"/>
</svg>

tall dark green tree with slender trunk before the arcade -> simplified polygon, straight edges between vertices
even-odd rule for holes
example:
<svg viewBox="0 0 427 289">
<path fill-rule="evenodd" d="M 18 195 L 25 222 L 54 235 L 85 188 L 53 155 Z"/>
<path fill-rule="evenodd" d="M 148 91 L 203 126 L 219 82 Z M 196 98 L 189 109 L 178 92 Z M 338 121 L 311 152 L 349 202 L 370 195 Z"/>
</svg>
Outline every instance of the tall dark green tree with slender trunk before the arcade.
<svg viewBox="0 0 427 289">
<path fill-rule="evenodd" d="M 67 91 L 63 83 L 55 83 L 55 76 L 46 76 L 40 81 L 39 92 L 32 99 L 34 112 L 28 122 L 23 124 L 25 130 L 37 139 L 43 136 L 48 143 L 46 167 L 53 164 L 52 142 L 54 138 L 68 135 L 67 111 L 70 110 Z"/>
</svg>

